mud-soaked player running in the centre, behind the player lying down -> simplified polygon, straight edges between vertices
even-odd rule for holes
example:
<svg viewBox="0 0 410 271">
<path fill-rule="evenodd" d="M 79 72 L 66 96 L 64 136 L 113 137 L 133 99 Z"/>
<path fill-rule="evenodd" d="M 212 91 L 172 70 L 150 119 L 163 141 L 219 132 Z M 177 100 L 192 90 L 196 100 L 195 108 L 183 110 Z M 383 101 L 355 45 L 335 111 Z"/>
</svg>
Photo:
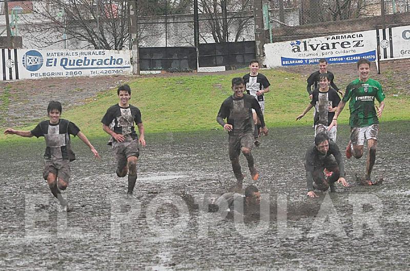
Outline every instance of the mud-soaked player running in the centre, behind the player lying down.
<svg viewBox="0 0 410 271">
<path fill-rule="evenodd" d="M 216 121 L 228 131 L 229 134 L 229 159 L 231 160 L 232 169 L 237 180 L 237 187 L 242 189 L 243 174 L 239 165 L 240 152 L 246 157 L 248 167 L 253 180 L 258 179 L 259 173 L 255 168 L 252 156 L 254 146 L 254 121 L 252 109 L 261 123 L 261 132 L 268 134 L 268 128 L 265 126 L 262 110 L 258 101 L 251 95 L 244 94 L 245 85 L 243 79 L 236 77 L 232 79 L 233 95 L 223 101 Z M 224 122 L 227 119 L 227 122 Z"/>
</svg>

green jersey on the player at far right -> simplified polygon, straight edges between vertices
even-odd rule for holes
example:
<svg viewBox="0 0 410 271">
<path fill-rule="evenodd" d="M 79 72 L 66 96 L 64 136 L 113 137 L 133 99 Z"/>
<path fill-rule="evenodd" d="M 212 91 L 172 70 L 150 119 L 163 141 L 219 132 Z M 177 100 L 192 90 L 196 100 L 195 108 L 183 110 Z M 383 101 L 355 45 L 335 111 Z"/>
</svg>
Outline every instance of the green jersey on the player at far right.
<svg viewBox="0 0 410 271">
<path fill-rule="evenodd" d="M 373 79 L 361 82 L 356 79 L 346 87 L 342 101 L 349 102 L 350 127 L 365 127 L 379 123 L 375 109 L 375 98 L 381 103 L 385 95 L 381 84 Z"/>
</svg>

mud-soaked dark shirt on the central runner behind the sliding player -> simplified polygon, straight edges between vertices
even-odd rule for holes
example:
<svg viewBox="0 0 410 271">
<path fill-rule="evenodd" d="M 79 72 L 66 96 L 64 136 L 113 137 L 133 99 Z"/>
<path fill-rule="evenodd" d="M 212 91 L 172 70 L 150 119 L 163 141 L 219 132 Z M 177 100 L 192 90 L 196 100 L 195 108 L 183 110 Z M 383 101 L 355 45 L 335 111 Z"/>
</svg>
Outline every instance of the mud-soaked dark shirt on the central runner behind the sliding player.
<svg viewBox="0 0 410 271">
<path fill-rule="evenodd" d="M 244 133 L 254 132 L 254 122 L 252 108 L 255 109 L 259 117 L 261 126 L 265 126 L 262 110 L 258 101 L 251 95 L 243 94 L 242 98 L 235 98 L 233 95 L 223 101 L 216 121 L 222 125 L 226 124 L 223 120 L 227 119 L 227 123 L 231 124 L 233 129 L 229 135 L 242 135 Z"/>
</svg>

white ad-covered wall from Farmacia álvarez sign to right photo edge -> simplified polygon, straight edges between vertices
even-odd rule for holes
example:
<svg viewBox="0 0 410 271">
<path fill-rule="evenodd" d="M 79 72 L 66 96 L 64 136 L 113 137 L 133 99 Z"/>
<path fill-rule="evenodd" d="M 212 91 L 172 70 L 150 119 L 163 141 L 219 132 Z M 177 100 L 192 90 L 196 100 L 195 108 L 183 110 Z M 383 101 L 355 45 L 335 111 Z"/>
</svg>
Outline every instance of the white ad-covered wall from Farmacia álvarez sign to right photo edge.
<svg viewBox="0 0 410 271">
<path fill-rule="evenodd" d="M 268 43 L 264 46 L 267 67 L 410 58 L 410 25 L 387 29 L 320 36 Z"/>
</svg>

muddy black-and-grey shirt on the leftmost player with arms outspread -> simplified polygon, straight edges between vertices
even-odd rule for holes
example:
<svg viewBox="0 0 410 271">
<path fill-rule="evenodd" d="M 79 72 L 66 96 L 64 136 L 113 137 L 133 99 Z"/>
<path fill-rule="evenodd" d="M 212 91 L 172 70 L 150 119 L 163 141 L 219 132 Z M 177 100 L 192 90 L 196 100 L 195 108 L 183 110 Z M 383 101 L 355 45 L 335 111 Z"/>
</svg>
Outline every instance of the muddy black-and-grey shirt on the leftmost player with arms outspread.
<svg viewBox="0 0 410 271">
<path fill-rule="evenodd" d="M 60 119 L 57 124 L 42 121 L 30 132 L 34 137 L 44 137 L 46 139 L 45 159 L 69 160 L 70 134 L 75 136 L 79 131 L 80 129 L 74 123 Z"/>
</svg>

